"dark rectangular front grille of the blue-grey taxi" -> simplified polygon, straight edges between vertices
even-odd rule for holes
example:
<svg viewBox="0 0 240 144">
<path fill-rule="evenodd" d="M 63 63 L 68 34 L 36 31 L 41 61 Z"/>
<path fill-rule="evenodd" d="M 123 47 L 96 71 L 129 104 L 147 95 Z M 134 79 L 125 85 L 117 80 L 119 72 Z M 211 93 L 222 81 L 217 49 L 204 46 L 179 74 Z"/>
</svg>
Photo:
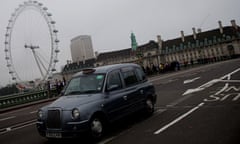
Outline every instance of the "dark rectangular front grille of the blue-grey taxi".
<svg viewBox="0 0 240 144">
<path fill-rule="evenodd" d="M 61 128 L 61 113 L 60 110 L 48 110 L 47 128 L 59 129 Z"/>
</svg>

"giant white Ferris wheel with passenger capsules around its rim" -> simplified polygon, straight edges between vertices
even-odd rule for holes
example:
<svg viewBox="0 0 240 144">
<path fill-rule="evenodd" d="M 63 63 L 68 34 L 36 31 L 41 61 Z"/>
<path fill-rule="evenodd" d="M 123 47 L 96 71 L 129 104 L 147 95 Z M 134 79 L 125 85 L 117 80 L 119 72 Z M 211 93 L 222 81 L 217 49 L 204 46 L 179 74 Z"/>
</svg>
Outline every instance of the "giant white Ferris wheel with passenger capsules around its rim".
<svg viewBox="0 0 240 144">
<path fill-rule="evenodd" d="M 37 1 L 20 4 L 11 14 L 5 34 L 5 60 L 15 82 L 46 81 L 56 71 L 58 30 L 48 8 Z"/>
</svg>

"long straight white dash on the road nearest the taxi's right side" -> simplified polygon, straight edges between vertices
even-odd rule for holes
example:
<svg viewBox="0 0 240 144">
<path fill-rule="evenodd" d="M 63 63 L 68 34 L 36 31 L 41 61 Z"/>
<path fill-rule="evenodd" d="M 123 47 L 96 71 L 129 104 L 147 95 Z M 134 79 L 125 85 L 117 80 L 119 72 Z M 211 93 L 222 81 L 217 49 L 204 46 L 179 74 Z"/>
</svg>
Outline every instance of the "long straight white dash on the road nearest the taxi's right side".
<svg viewBox="0 0 240 144">
<path fill-rule="evenodd" d="M 203 106 L 204 103 L 200 103 L 198 106 L 194 107 L 193 109 L 189 110 L 187 113 L 181 115 L 180 117 L 178 117 L 177 119 L 173 120 L 172 122 L 170 122 L 169 124 L 165 125 L 164 127 L 162 127 L 161 129 L 157 130 L 154 132 L 155 135 L 163 132 L 164 130 L 166 130 L 167 128 L 169 128 L 170 126 L 174 125 L 175 123 L 179 122 L 180 120 L 182 120 L 183 118 L 185 118 L 186 116 L 190 115 L 191 113 L 193 113 L 194 111 L 196 111 L 197 109 L 199 109 L 201 106 Z"/>
</svg>

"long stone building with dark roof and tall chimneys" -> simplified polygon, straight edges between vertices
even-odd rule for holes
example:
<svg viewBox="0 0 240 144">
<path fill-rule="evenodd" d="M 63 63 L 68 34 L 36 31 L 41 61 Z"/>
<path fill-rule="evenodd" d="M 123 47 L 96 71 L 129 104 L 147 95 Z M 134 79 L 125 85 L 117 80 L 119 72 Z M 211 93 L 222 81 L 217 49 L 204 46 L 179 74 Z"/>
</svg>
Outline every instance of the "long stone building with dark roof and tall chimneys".
<svg viewBox="0 0 240 144">
<path fill-rule="evenodd" d="M 95 59 L 83 62 L 68 63 L 62 74 L 70 78 L 75 72 L 87 67 L 97 67 L 115 63 L 139 63 L 143 67 L 150 65 L 159 66 L 171 62 L 179 62 L 180 65 L 195 63 L 207 63 L 229 58 L 240 57 L 240 27 L 235 20 L 231 25 L 222 26 L 209 31 L 192 28 L 192 35 L 184 35 L 176 39 L 162 40 L 157 36 L 157 41 L 138 46 L 136 51 L 131 48 L 119 51 L 100 53 Z"/>
</svg>

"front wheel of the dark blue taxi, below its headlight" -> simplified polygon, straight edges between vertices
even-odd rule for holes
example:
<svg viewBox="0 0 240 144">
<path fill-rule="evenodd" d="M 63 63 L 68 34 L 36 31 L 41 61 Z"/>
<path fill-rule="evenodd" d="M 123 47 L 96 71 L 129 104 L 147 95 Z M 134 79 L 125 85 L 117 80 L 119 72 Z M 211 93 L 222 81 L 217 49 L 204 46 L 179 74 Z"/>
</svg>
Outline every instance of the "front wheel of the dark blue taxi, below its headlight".
<svg viewBox="0 0 240 144">
<path fill-rule="evenodd" d="M 100 140 L 105 133 L 105 122 L 103 118 L 94 116 L 89 123 L 89 133 L 93 140 Z"/>
</svg>

